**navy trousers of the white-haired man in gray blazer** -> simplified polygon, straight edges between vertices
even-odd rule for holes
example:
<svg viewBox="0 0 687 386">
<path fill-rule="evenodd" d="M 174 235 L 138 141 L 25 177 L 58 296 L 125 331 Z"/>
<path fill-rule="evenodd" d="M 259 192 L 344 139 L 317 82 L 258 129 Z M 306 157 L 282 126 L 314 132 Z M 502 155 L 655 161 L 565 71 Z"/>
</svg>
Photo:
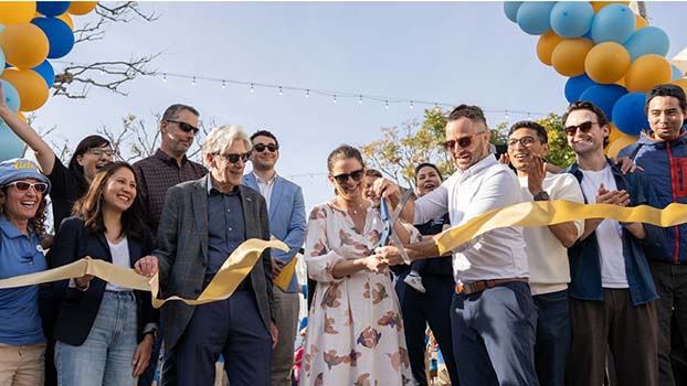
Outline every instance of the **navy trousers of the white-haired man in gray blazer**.
<svg viewBox="0 0 687 386">
<path fill-rule="evenodd" d="M 226 300 L 197 305 L 173 350 L 179 386 L 214 385 L 220 354 L 230 385 L 269 385 L 272 336 L 252 291 L 236 291 Z"/>
</svg>

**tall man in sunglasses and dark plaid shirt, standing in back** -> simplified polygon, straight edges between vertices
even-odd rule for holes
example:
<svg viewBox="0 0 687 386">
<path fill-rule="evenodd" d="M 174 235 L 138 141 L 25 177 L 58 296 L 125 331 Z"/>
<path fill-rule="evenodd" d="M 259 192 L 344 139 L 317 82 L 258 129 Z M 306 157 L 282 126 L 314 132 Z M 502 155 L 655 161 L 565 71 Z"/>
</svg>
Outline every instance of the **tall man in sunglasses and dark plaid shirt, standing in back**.
<svg viewBox="0 0 687 386">
<path fill-rule="evenodd" d="M 160 119 L 160 148 L 155 154 L 134 164 L 147 213 L 147 223 L 154 235 L 160 223 L 167 190 L 186 181 L 198 180 L 208 173 L 203 165 L 187 158 L 187 152 L 198 133 L 198 110 L 191 106 L 180 104 L 169 106 Z M 139 386 L 152 384 L 161 342 L 162 337 L 159 334 L 151 352 L 151 366 L 148 366 L 138 378 Z M 177 384 L 175 358 L 169 351 L 165 351 L 161 373 L 162 386 Z"/>
</svg>

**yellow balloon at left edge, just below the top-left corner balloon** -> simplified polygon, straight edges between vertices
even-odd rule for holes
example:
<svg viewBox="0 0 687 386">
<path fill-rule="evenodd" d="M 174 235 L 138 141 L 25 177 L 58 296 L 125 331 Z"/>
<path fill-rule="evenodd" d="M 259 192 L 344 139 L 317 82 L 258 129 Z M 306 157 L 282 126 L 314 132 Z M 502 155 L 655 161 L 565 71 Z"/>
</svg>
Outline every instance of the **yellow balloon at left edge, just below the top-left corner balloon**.
<svg viewBox="0 0 687 386">
<path fill-rule="evenodd" d="M 47 57 L 47 36 L 31 23 L 11 24 L 0 31 L 0 46 L 7 63 L 18 68 L 31 68 Z"/>
</svg>

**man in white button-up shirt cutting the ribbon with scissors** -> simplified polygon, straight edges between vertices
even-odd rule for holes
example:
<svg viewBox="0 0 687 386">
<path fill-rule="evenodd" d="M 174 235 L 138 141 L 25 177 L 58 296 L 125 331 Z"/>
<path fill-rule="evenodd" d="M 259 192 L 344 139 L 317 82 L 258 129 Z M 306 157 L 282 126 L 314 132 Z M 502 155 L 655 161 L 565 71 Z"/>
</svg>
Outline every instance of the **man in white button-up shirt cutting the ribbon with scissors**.
<svg viewBox="0 0 687 386">
<path fill-rule="evenodd" d="M 446 124 L 445 149 L 457 171 L 441 186 L 403 208 L 402 217 L 423 224 L 448 212 L 452 227 L 503 206 L 520 203 L 518 179 L 489 153 L 489 130 L 482 109 L 461 105 Z M 400 189 L 376 181 L 376 193 L 395 206 Z M 433 239 L 405 246 L 411 259 L 440 256 Z M 402 264 L 394 246 L 376 253 Z M 489 230 L 453 250 L 451 321 L 458 378 L 465 385 L 538 385 L 535 372 L 537 313 L 528 285 L 522 229 Z"/>
</svg>

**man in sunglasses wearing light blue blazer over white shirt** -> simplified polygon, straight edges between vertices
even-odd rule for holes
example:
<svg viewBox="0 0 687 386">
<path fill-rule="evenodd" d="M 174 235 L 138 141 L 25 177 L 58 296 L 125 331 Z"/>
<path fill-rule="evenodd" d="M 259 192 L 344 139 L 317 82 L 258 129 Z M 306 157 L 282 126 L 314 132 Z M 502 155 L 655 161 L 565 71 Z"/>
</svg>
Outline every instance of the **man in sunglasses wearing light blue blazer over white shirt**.
<svg viewBox="0 0 687 386">
<path fill-rule="evenodd" d="M 251 136 L 253 171 L 243 176 L 243 184 L 258 191 L 269 210 L 271 234 L 288 245 L 288 253 L 273 250 L 273 277 L 288 264 L 305 239 L 305 204 L 300 186 L 277 175 L 275 164 L 279 159 L 279 142 L 267 131 Z M 273 315 L 279 340 L 272 352 L 272 385 L 289 386 L 294 365 L 294 342 L 298 326 L 300 299 L 296 275 L 286 291 L 274 286 L 275 314 Z"/>
</svg>

